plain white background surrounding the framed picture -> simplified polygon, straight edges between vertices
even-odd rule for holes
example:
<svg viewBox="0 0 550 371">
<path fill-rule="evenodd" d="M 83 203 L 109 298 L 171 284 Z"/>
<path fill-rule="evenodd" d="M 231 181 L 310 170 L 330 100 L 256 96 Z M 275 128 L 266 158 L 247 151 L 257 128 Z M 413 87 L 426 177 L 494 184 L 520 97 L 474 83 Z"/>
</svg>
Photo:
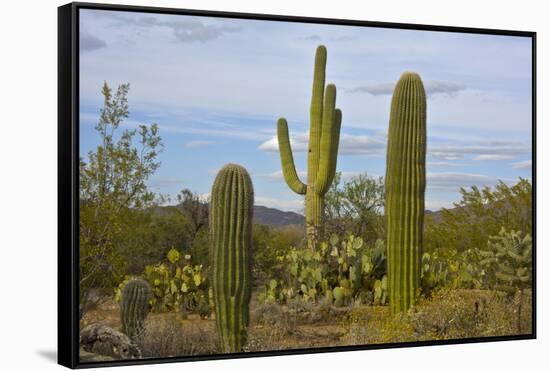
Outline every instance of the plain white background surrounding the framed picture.
<svg viewBox="0 0 550 371">
<path fill-rule="evenodd" d="M 121 0 L 122 1 L 122 0 Z M 109 1 L 110 2 L 110 1 Z M 539 369 L 550 350 L 547 228 L 550 24 L 544 1 L 141 0 L 131 5 L 533 30 L 538 32 L 538 333 L 536 341 L 466 344 L 145 366 L 157 370 Z M 58 0 L 4 1 L 0 11 L 0 367 L 47 370 L 56 348 Z M 7 207 L 6 207 L 7 206 Z M 545 354 L 546 352 L 546 354 Z M 546 355 L 546 357 L 545 357 Z M 136 368 L 138 369 L 138 368 Z M 143 366 L 142 368 L 144 369 Z"/>
</svg>

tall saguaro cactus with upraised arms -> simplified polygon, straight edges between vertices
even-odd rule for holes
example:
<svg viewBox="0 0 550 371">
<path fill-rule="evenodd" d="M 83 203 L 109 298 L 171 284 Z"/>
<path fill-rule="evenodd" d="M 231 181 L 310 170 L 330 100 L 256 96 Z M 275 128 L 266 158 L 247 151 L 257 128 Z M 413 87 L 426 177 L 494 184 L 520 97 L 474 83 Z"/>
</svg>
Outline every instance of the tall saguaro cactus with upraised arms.
<svg viewBox="0 0 550 371">
<path fill-rule="evenodd" d="M 322 236 L 325 193 L 336 173 L 336 158 L 340 139 L 342 111 L 336 106 L 336 86 L 325 88 L 327 49 L 320 45 L 315 53 L 315 70 L 310 107 L 309 146 L 307 155 L 307 184 L 299 178 L 288 135 L 286 119 L 277 122 L 277 138 L 281 167 L 286 183 L 294 192 L 306 196 L 306 228 L 308 246 Z"/>
</svg>

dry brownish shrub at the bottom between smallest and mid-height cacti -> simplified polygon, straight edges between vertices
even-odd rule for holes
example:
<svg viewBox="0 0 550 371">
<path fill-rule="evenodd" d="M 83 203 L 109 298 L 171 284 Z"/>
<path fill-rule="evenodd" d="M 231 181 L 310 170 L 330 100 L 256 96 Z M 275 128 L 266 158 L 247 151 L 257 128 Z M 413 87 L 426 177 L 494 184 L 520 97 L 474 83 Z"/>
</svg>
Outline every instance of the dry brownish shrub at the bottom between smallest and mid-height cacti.
<svg viewBox="0 0 550 371">
<path fill-rule="evenodd" d="M 184 325 L 174 314 L 150 319 L 139 342 L 142 356 L 166 358 L 219 353 L 214 322 L 206 323 Z"/>
</svg>

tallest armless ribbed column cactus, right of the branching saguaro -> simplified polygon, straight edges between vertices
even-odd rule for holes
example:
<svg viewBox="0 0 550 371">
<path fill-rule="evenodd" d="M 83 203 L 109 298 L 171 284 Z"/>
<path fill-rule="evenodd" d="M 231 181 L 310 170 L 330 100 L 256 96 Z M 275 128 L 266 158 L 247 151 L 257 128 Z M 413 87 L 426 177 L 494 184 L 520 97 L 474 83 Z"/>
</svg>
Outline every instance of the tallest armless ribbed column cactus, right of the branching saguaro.
<svg viewBox="0 0 550 371">
<path fill-rule="evenodd" d="M 404 73 L 391 102 L 386 162 L 386 223 L 391 312 L 406 311 L 420 284 L 426 188 L 426 93 Z"/>
</svg>

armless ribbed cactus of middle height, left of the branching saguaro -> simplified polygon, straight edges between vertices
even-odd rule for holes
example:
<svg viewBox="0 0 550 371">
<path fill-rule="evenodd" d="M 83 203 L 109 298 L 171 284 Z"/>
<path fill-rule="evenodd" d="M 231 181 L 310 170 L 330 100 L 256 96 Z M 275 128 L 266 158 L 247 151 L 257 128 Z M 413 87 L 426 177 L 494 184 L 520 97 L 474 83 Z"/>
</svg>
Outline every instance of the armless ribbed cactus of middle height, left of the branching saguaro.
<svg viewBox="0 0 550 371">
<path fill-rule="evenodd" d="M 254 191 L 245 168 L 228 164 L 216 176 L 210 200 L 212 290 L 222 351 L 246 344 Z"/>
</svg>

